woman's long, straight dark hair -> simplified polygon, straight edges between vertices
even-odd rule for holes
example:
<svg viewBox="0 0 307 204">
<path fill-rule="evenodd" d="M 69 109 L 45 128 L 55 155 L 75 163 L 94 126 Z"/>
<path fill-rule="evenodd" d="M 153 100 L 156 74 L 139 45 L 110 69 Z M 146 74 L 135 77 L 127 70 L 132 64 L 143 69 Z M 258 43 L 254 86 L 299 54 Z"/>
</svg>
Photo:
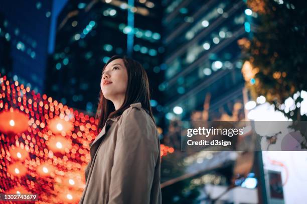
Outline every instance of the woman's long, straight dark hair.
<svg viewBox="0 0 307 204">
<path fill-rule="evenodd" d="M 142 108 L 144 108 L 148 112 L 152 120 L 155 122 L 155 118 L 152 115 L 149 101 L 150 90 L 148 77 L 145 69 L 138 61 L 128 58 L 126 56 L 114 55 L 107 61 L 107 63 L 102 68 L 102 71 L 108 63 L 110 63 L 114 59 L 119 58 L 123 60 L 128 73 L 128 84 L 125 93 L 125 99 L 121 107 L 115 110 L 113 102 L 103 96 L 102 90 L 100 88 L 98 106 L 96 111 L 96 119 L 98 119 L 98 129 L 102 128 L 105 125 L 107 118 L 120 115 L 125 109 L 130 106 L 130 104 L 136 102 L 140 102 L 142 104 Z"/>
</svg>

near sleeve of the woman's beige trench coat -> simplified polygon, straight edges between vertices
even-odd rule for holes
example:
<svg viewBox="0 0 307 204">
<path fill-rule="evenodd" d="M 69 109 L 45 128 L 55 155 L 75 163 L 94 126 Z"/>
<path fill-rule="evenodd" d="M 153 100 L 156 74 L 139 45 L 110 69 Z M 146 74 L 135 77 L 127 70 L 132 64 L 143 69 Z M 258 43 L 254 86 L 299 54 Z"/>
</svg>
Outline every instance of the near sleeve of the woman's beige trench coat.
<svg viewBox="0 0 307 204">
<path fill-rule="evenodd" d="M 111 169 L 109 203 L 145 204 L 150 201 L 160 152 L 156 126 L 148 123 L 151 118 L 146 114 L 131 108 L 122 115 Z"/>
</svg>

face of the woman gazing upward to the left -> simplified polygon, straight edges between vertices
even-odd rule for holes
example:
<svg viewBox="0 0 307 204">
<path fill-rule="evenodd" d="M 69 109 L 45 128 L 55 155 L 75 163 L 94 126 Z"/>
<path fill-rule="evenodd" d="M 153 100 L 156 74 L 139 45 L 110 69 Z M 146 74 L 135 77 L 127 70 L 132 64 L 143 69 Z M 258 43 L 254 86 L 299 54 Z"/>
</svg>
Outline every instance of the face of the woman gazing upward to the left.
<svg viewBox="0 0 307 204">
<path fill-rule="evenodd" d="M 114 59 L 104 68 L 100 87 L 106 99 L 122 100 L 128 84 L 128 73 L 122 59 Z M 113 101 L 114 102 L 114 101 Z"/>
</svg>

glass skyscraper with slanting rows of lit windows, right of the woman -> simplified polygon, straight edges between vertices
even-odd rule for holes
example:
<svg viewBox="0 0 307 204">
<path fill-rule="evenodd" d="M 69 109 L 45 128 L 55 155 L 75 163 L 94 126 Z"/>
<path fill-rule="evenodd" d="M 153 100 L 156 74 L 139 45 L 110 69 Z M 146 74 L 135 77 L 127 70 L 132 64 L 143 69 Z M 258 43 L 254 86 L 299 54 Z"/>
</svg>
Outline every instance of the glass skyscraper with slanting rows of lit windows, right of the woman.
<svg viewBox="0 0 307 204">
<path fill-rule="evenodd" d="M 242 0 L 165 1 L 166 116 L 189 119 L 210 98 L 208 119 L 244 117 L 244 80 L 237 40 L 250 34 L 254 13 Z M 234 104 L 239 104 L 234 107 Z"/>
</svg>

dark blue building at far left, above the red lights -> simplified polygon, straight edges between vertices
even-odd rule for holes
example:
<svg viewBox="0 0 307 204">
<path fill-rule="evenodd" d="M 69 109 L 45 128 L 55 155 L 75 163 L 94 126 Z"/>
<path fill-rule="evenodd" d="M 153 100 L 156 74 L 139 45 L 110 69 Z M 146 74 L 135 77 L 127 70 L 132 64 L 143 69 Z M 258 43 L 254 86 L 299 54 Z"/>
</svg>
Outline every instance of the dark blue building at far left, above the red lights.
<svg viewBox="0 0 307 204">
<path fill-rule="evenodd" d="M 0 6 L 0 37 L 10 43 L 4 58 L 12 63 L 7 68 L 8 62 L 0 61 L 0 71 L 36 92 L 44 89 L 51 10 L 52 0 L 3 1 Z"/>
</svg>

